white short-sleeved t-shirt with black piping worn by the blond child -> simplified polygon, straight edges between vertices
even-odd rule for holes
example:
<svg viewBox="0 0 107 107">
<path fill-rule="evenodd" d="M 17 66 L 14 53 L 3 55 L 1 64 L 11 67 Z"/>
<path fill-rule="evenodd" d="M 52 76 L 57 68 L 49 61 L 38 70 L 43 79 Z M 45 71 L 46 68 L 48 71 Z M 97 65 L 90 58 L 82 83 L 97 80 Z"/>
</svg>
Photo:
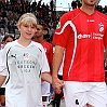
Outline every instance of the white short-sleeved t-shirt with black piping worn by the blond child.
<svg viewBox="0 0 107 107">
<path fill-rule="evenodd" d="M 24 48 L 17 40 L 8 43 L 0 56 L 0 75 L 6 76 L 6 107 L 42 107 L 41 72 L 50 71 L 43 46 L 31 41 Z"/>
</svg>

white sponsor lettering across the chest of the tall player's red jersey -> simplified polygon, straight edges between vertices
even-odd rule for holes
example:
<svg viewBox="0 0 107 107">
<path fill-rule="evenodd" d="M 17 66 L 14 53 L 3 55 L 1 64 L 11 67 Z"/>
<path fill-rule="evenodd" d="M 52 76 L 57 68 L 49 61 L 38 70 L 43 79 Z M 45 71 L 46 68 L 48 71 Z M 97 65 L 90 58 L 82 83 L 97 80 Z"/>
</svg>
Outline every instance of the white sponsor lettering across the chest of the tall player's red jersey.
<svg viewBox="0 0 107 107">
<path fill-rule="evenodd" d="M 92 32 L 92 34 L 90 34 L 90 35 L 82 35 L 82 34 L 80 34 L 80 35 L 78 35 L 78 39 L 96 39 L 96 40 L 102 40 L 103 39 L 103 37 L 104 37 L 104 35 L 102 35 L 102 34 L 96 34 L 96 32 Z"/>
</svg>

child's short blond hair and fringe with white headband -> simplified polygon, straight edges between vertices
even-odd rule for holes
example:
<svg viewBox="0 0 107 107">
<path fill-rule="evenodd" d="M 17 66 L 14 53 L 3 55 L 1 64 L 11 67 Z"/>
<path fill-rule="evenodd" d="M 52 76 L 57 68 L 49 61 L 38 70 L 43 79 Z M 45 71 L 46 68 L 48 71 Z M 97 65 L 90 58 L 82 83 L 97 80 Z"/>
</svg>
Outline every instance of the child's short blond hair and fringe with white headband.
<svg viewBox="0 0 107 107">
<path fill-rule="evenodd" d="M 29 24 L 31 24 L 34 26 L 37 26 L 37 22 L 38 21 L 37 21 L 37 17 L 35 16 L 35 14 L 32 14 L 32 13 L 25 13 L 25 14 L 23 14 L 19 17 L 19 19 L 17 22 L 17 25 L 22 25 L 22 24 L 29 25 Z"/>
</svg>

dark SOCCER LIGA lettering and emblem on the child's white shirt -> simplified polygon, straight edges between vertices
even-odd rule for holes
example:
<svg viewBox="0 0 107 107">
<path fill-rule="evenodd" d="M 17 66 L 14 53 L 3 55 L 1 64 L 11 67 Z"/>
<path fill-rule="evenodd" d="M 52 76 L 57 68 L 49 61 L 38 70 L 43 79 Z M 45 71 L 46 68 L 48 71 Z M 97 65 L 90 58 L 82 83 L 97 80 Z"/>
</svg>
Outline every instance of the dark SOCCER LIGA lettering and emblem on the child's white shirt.
<svg viewBox="0 0 107 107">
<path fill-rule="evenodd" d="M 15 57 L 15 55 L 12 55 L 12 57 Z M 34 58 L 29 53 L 23 53 L 23 55 L 17 56 L 15 65 L 21 72 L 31 72 L 34 69 L 40 71 L 41 67 L 38 57 Z"/>
</svg>

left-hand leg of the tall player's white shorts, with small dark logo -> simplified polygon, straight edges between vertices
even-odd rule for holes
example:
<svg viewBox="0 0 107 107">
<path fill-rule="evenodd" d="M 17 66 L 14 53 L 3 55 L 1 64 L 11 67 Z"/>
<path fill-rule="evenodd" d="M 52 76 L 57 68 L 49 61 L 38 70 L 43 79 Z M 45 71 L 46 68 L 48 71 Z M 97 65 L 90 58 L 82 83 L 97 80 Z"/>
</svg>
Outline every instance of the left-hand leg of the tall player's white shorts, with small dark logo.
<svg viewBox="0 0 107 107">
<path fill-rule="evenodd" d="M 66 107 L 85 107 L 88 103 L 82 82 L 65 81 L 64 97 Z"/>
</svg>

